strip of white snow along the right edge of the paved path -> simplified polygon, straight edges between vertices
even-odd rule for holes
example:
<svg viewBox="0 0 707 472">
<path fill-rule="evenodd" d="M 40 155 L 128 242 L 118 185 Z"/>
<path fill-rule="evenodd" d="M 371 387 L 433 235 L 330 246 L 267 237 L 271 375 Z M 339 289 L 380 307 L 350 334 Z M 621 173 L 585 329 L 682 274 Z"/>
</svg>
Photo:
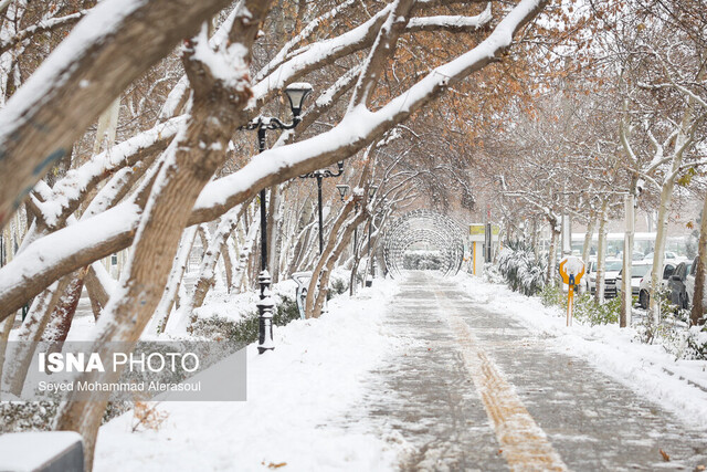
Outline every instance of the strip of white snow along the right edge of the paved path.
<svg viewBox="0 0 707 472">
<path fill-rule="evenodd" d="M 548 338 L 556 349 L 590 361 L 685 422 L 707 428 L 707 361 L 676 360 L 662 346 L 639 343 L 633 328 L 588 326 L 577 321 L 567 327 L 560 311 L 505 285 L 466 274 L 457 275 L 455 281 L 471 297 L 492 311 L 518 318 L 524 326 Z"/>
</svg>

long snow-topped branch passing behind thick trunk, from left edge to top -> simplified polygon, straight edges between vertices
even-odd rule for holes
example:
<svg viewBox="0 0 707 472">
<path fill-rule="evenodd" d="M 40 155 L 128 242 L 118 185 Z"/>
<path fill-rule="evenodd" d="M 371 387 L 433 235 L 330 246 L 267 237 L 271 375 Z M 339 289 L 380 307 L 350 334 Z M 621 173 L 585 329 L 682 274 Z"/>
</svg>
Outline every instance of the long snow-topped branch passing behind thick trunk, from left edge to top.
<svg viewBox="0 0 707 472">
<path fill-rule="evenodd" d="M 329 132 L 270 149 L 235 174 L 209 182 L 188 224 L 212 221 L 264 187 L 354 156 L 434 99 L 450 84 L 492 62 L 511 44 L 514 32 L 545 3 L 545 0 L 521 0 L 476 48 L 436 67 L 377 112 L 358 106 Z M 3 311 L 17 310 L 28 295 L 36 295 L 61 275 L 127 248 L 135 238 L 140 214 L 139 206 L 122 203 L 35 241 L 0 270 L 0 306 Z M 46 248 L 52 248 L 51 255 Z"/>
</svg>

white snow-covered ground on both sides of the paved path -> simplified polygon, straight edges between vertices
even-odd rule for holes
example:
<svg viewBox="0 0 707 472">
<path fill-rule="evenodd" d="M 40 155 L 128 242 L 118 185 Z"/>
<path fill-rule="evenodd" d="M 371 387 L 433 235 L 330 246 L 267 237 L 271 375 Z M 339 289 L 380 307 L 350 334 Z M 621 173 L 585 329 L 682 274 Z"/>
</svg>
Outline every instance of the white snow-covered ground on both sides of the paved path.
<svg viewBox="0 0 707 472">
<path fill-rule="evenodd" d="M 639 343 L 633 328 L 577 321 L 567 327 L 560 310 L 505 285 L 466 274 L 454 282 L 489 310 L 518 318 L 551 349 L 584 358 L 687 423 L 707 427 L 707 361 L 676 360 L 659 345 Z M 333 300 L 319 319 L 277 328 L 274 352 L 258 356 L 249 346 L 245 402 L 162 402 L 157 410 L 167 419 L 155 431 L 133 432 L 133 412 L 112 420 L 99 432 L 96 470 L 397 469 L 403 440 L 365 416 L 346 419 L 366 408 L 370 373 L 411 343 L 384 324 L 397 291 L 394 281 L 377 280 L 356 298 Z"/>
</svg>

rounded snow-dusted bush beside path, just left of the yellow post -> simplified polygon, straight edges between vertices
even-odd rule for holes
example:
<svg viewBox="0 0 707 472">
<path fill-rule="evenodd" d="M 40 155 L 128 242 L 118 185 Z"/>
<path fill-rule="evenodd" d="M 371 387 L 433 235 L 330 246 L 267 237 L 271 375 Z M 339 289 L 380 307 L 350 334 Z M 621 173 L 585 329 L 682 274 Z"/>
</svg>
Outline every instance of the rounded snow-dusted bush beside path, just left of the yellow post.
<svg viewBox="0 0 707 472">
<path fill-rule="evenodd" d="M 545 287 L 546 264 L 523 243 L 510 243 L 498 256 L 498 271 L 508 286 L 524 295 L 536 295 Z"/>
</svg>

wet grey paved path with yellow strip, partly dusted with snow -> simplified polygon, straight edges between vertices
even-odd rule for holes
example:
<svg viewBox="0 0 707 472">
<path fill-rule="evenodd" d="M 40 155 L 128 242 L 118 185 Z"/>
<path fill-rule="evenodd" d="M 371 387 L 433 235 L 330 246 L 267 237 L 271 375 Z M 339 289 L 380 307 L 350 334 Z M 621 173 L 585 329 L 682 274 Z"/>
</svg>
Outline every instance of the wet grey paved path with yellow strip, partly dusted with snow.
<svg viewBox="0 0 707 472">
<path fill-rule="evenodd" d="M 707 434 L 558 353 L 516 316 L 425 273 L 401 284 L 388 324 L 420 343 L 369 379 L 373 419 L 403 470 L 693 470 Z M 502 291 L 503 292 L 503 291 Z M 481 391 L 481 395 L 479 395 Z M 669 455 L 665 461 L 663 450 Z"/>
</svg>

